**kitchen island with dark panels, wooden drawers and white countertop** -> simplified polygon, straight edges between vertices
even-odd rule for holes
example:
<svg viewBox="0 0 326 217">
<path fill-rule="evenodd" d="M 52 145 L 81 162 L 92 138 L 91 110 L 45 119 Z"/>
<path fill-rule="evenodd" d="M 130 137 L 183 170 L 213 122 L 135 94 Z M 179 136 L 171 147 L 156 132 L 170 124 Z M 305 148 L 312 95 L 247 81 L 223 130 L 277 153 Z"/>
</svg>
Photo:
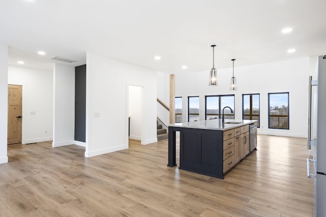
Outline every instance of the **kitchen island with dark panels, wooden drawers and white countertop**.
<svg viewBox="0 0 326 217">
<path fill-rule="evenodd" d="M 249 154 L 249 125 L 257 120 L 222 119 L 169 126 L 168 166 L 176 166 L 176 131 L 180 132 L 179 168 L 216 178 Z"/>
</svg>

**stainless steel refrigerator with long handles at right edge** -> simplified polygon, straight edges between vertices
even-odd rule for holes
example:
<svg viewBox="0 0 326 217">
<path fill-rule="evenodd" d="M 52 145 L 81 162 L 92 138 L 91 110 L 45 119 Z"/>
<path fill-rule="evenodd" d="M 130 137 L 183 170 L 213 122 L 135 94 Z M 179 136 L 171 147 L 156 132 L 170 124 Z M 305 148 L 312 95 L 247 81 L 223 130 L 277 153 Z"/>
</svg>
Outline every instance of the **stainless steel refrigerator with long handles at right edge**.
<svg viewBox="0 0 326 217">
<path fill-rule="evenodd" d="M 315 179 L 316 216 L 326 216 L 326 55 L 319 56 L 314 76 L 309 78 L 308 178 Z M 313 163 L 313 171 L 310 170 Z"/>
</svg>

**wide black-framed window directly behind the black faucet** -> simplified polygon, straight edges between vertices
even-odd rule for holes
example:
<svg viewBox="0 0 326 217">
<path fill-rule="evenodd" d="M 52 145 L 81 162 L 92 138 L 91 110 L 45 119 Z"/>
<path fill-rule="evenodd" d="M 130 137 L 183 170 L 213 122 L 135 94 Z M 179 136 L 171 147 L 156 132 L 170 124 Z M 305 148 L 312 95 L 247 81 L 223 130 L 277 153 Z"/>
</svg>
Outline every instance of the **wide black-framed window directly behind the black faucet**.
<svg viewBox="0 0 326 217">
<path fill-rule="evenodd" d="M 224 110 L 224 118 L 234 119 L 234 95 L 216 95 L 205 97 L 206 120 L 222 118 L 222 110 L 225 106 L 231 107 Z"/>
</svg>

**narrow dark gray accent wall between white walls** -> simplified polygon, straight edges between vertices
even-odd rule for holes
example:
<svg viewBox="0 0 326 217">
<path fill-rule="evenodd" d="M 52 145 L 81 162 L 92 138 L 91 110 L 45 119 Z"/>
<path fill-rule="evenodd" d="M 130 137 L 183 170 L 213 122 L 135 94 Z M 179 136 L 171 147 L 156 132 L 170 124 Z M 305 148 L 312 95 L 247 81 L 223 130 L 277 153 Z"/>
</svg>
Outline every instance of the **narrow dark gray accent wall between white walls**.
<svg viewBox="0 0 326 217">
<path fill-rule="evenodd" d="M 86 142 L 86 65 L 75 67 L 75 140 Z"/>
</svg>

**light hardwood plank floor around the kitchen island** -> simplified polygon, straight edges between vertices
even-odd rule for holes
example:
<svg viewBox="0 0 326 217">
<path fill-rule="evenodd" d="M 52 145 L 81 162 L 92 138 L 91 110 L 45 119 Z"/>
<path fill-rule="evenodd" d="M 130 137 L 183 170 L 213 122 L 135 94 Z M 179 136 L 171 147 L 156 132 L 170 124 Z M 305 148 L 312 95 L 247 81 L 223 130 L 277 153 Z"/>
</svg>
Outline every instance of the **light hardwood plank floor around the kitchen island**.
<svg viewBox="0 0 326 217">
<path fill-rule="evenodd" d="M 223 180 L 167 167 L 168 140 L 129 140 L 129 149 L 92 158 L 84 151 L 9 145 L 0 216 L 314 216 L 303 138 L 259 135 L 258 150 Z"/>
</svg>

